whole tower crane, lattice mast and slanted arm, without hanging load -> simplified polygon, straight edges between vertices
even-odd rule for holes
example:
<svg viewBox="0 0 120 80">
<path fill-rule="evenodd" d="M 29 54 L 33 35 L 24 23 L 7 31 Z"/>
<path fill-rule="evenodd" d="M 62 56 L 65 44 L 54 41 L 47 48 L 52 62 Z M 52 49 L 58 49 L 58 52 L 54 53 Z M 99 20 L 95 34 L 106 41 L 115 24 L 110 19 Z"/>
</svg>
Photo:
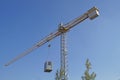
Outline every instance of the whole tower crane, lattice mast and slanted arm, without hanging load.
<svg viewBox="0 0 120 80">
<path fill-rule="evenodd" d="M 83 22 L 87 18 L 89 18 L 90 20 L 93 20 L 97 16 L 99 16 L 99 10 L 96 7 L 93 7 L 91 9 L 89 9 L 86 13 L 84 13 L 83 15 L 75 18 L 74 20 L 72 20 L 72 21 L 70 21 L 70 22 L 68 22 L 66 24 L 60 24 L 59 28 L 55 32 L 49 34 L 47 37 L 40 40 L 34 46 L 27 49 L 25 52 L 21 53 L 20 55 L 18 55 L 17 57 L 12 59 L 8 63 L 6 63 L 5 66 L 8 66 L 8 65 L 14 63 L 15 61 L 19 60 L 20 58 L 30 54 L 32 51 L 34 51 L 35 49 L 41 47 L 45 43 L 47 43 L 50 40 L 54 39 L 55 37 L 61 36 L 61 67 L 60 67 L 60 73 L 58 75 L 57 80 L 68 80 L 68 78 L 67 78 L 67 65 L 66 65 L 66 63 L 67 63 L 67 59 L 66 59 L 67 58 L 67 53 L 66 53 L 66 45 L 65 45 L 66 44 L 65 43 L 65 34 L 71 28 L 73 28 L 77 24 Z"/>
</svg>

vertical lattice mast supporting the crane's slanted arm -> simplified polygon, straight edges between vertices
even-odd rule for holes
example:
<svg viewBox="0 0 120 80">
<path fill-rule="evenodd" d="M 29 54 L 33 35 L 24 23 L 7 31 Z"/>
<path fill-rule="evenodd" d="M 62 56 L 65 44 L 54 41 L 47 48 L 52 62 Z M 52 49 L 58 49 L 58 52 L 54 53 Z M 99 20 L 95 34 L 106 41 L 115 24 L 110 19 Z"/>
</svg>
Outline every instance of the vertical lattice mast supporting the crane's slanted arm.
<svg viewBox="0 0 120 80">
<path fill-rule="evenodd" d="M 63 25 L 59 25 L 59 29 L 61 29 L 61 32 L 63 32 L 60 35 L 60 45 L 61 45 L 61 51 L 60 51 L 60 77 L 59 80 L 68 80 L 68 61 L 67 61 L 67 47 L 66 47 L 66 33 L 64 33 Z"/>
</svg>

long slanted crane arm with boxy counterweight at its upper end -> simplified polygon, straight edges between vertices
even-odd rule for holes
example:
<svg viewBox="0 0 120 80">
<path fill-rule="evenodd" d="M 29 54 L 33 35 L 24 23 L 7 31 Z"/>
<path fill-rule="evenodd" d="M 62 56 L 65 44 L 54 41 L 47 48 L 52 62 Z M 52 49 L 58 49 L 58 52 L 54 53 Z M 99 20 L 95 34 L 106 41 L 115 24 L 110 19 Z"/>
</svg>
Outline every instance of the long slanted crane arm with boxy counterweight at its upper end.
<svg viewBox="0 0 120 80">
<path fill-rule="evenodd" d="M 81 23 L 85 19 L 89 18 L 90 20 L 93 20 L 97 16 L 99 16 L 99 11 L 96 7 L 93 7 L 90 10 L 88 10 L 86 13 L 84 13 L 82 16 L 75 18 L 74 20 L 68 22 L 67 24 L 59 25 L 58 30 L 56 30 L 54 33 L 49 34 L 47 37 L 43 38 L 38 43 L 36 43 L 33 47 L 27 49 L 25 52 L 21 53 L 20 55 L 18 55 L 17 57 L 15 57 L 11 61 L 9 61 L 7 64 L 5 64 L 5 66 L 8 66 L 8 65 L 12 64 L 13 62 L 17 61 L 18 59 L 24 57 L 25 55 L 31 53 L 33 50 L 35 50 L 38 47 L 42 46 L 43 44 L 49 42 L 50 40 L 54 39 L 55 37 L 57 37 L 63 33 L 66 33 L 72 27 Z"/>
</svg>

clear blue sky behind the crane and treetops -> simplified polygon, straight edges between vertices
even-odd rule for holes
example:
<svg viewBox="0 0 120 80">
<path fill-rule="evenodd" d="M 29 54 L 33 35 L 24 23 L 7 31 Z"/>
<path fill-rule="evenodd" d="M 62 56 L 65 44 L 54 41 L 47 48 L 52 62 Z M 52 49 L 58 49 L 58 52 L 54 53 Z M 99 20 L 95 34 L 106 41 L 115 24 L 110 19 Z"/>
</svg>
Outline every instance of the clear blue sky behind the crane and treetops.
<svg viewBox="0 0 120 80">
<path fill-rule="evenodd" d="M 60 66 L 59 37 L 14 64 L 3 65 L 67 23 L 97 6 L 100 16 L 67 33 L 69 80 L 81 80 L 87 58 L 96 80 L 120 79 L 119 0 L 0 0 L 0 80 L 54 80 Z M 53 72 L 44 73 L 46 60 Z"/>
</svg>

